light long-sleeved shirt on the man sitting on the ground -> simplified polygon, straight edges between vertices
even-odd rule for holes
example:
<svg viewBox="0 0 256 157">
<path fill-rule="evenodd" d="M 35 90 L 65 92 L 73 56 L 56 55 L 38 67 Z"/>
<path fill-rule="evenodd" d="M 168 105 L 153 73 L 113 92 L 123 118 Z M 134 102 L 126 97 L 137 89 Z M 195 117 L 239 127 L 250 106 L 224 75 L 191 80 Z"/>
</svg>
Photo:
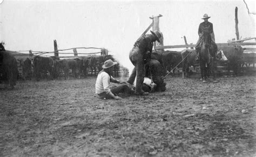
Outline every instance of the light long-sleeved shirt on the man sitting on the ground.
<svg viewBox="0 0 256 157">
<path fill-rule="evenodd" d="M 96 94 L 100 94 L 103 92 L 109 94 L 110 79 L 113 79 L 112 76 L 110 77 L 109 74 L 107 74 L 105 71 L 102 71 L 98 74 L 95 84 Z"/>
</svg>

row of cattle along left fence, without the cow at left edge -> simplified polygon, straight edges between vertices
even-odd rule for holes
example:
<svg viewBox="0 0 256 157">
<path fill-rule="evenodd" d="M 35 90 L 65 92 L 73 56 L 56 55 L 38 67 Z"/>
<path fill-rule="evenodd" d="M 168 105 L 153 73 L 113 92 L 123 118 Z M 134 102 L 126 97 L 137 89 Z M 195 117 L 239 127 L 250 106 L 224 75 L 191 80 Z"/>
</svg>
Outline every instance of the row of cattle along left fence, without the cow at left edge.
<svg viewBox="0 0 256 157">
<path fill-rule="evenodd" d="M 32 70 L 35 73 L 36 80 L 39 81 L 41 78 L 48 76 L 50 79 L 57 79 L 64 74 L 65 79 L 69 79 L 70 70 L 73 78 L 86 77 L 88 72 L 87 69 L 91 69 L 91 76 L 94 73 L 96 76 L 97 70 L 102 70 L 102 65 L 107 59 L 111 59 L 116 62 L 116 59 L 112 55 L 106 56 L 88 56 L 88 57 L 75 57 L 69 59 L 60 59 L 59 57 L 41 57 L 35 56 L 33 59 L 27 58 L 24 62 L 21 62 L 24 79 L 31 79 Z M 29 67 L 29 68 L 28 68 Z M 114 74 L 118 75 L 120 65 L 114 66 Z"/>
</svg>

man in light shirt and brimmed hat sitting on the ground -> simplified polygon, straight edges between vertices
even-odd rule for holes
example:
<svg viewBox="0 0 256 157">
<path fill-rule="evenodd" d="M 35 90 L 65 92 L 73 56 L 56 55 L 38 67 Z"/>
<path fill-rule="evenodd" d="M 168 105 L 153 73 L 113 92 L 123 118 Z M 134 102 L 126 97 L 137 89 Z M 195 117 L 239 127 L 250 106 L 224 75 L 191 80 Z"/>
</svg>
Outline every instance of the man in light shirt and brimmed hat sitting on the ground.
<svg viewBox="0 0 256 157">
<path fill-rule="evenodd" d="M 106 60 L 102 66 L 103 70 L 99 72 L 95 84 L 96 94 L 100 98 L 106 99 L 122 99 L 118 97 L 118 93 L 134 94 L 134 91 L 129 87 L 128 83 L 120 82 L 111 76 L 114 65 L 117 62 L 113 62 L 111 59 Z M 116 87 L 110 87 L 110 82 L 121 84 Z"/>
</svg>

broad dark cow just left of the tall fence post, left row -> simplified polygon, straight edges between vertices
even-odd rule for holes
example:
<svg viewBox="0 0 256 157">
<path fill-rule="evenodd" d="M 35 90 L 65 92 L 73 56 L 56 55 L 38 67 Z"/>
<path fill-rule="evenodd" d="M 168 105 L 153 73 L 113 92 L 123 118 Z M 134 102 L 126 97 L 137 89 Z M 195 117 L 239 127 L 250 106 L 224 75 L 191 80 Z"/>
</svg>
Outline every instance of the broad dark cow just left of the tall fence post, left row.
<svg viewBox="0 0 256 157">
<path fill-rule="evenodd" d="M 42 76 L 46 77 L 48 72 L 50 79 L 53 79 L 54 61 L 51 57 L 36 56 L 33 58 L 32 64 L 37 81 L 39 81 Z"/>
</svg>

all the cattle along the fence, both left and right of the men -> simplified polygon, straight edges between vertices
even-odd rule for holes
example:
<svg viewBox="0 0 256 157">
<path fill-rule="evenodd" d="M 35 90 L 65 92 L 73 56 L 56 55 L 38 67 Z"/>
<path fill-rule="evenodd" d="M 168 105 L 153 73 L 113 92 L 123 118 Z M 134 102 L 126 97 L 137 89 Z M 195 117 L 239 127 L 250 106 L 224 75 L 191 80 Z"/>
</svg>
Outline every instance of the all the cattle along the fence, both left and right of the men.
<svg viewBox="0 0 256 157">
<path fill-rule="evenodd" d="M 234 73 L 237 73 L 241 67 L 241 58 L 243 56 L 241 46 L 219 46 L 218 47 L 218 65 L 227 64 L 228 71 L 233 68 Z M 196 52 L 193 49 L 185 49 L 183 51 L 153 51 L 151 59 L 156 59 L 163 66 L 163 70 L 175 70 L 175 67 L 183 68 L 186 76 L 189 76 L 188 67 L 198 66 L 199 63 L 195 60 Z M 106 56 L 88 56 L 88 57 L 75 57 L 69 59 L 60 59 L 59 57 L 41 57 L 35 56 L 32 59 L 26 58 L 25 60 L 17 60 L 8 51 L 0 52 L 0 80 L 8 80 L 11 87 L 16 84 L 17 77 L 30 80 L 35 77 L 37 81 L 42 78 L 57 79 L 64 77 L 69 79 L 71 73 L 74 78 L 86 77 L 88 74 L 87 69 L 91 69 L 91 76 L 94 73 L 102 70 L 102 65 L 107 59 L 116 59 L 112 55 Z M 22 74 L 18 74 L 17 63 L 22 67 Z M 180 64 L 181 63 L 181 64 Z M 118 76 L 118 71 L 123 70 L 124 76 L 129 75 L 128 70 L 122 65 L 118 64 L 114 67 L 113 76 Z"/>
</svg>

